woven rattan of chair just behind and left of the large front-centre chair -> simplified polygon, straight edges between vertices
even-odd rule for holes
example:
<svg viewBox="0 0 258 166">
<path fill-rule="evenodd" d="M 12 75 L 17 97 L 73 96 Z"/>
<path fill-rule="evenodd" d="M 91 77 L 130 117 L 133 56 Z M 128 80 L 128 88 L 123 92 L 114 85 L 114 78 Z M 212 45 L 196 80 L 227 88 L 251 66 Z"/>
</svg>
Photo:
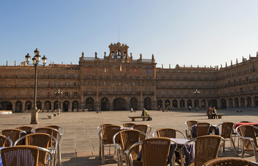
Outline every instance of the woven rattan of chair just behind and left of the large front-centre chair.
<svg viewBox="0 0 258 166">
<path fill-rule="evenodd" d="M 120 131 L 120 141 L 121 141 L 121 150 L 126 151 L 130 149 L 132 145 L 141 140 L 141 136 L 146 137 L 143 133 L 135 129 L 126 129 Z M 135 147 L 131 152 L 132 160 L 137 160 L 137 156 L 139 155 L 139 146 Z"/>
</svg>

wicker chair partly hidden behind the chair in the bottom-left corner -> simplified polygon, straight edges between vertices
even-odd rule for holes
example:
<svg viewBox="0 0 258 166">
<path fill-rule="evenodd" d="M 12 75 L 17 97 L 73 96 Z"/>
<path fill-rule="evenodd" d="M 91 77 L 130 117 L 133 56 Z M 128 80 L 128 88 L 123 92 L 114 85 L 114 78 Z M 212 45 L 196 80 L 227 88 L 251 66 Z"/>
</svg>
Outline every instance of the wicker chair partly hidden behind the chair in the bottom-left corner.
<svg viewBox="0 0 258 166">
<path fill-rule="evenodd" d="M 51 144 L 51 140 L 54 140 L 55 142 L 55 147 L 51 150 L 51 154 L 54 155 L 55 154 L 55 150 L 58 146 L 57 141 L 55 139 L 55 137 L 51 136 L 48 133 L 30 133 L 27 134 L 26 136 L 23 136 L 21 138 L 19 138 L 18 140 L 15 141 L 14 146 L 17 145 L 17 142 L 19 142 L 20 140 L 23 140 L 25 142 L 25 145 L 34 145 L 37 147 L 43 147 L 45 149 L 49 149 L 49 145 Z M 39 162 L 44 161 L 44 163 L 40 163 L 40 165 L 47 165 L 46 163 L 46 153 L 42 153 L 42 151 L 40 151 L 39 154 L 39 158 L 40 159 Z"/>
</svg>

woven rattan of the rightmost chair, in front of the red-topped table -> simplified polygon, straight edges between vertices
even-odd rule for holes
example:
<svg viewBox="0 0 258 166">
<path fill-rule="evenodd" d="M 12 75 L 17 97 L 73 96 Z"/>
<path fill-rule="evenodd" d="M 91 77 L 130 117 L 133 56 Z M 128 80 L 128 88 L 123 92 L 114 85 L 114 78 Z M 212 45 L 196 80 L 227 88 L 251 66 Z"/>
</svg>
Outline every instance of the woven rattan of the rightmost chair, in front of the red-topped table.
<svg viewBox="0 0 258 166">
<path fill-rule="evenodd" d="M 256 140 L 256 134 L 255 134 L 255 128 L 251 125 L 241 125 L 238 127 L 239 129 L 239 134 L 242 137 L 249 137 L 252 138 L 254 140 L 255 143 L 255 147 L 257 146 L 257 140 Z M 250 140 L 245 140 L 244 141 L 244 147 L 246 151 L 253 151 L 253 147 L 252 147 L 252 143 L 250 142 Z"/>
</svg>

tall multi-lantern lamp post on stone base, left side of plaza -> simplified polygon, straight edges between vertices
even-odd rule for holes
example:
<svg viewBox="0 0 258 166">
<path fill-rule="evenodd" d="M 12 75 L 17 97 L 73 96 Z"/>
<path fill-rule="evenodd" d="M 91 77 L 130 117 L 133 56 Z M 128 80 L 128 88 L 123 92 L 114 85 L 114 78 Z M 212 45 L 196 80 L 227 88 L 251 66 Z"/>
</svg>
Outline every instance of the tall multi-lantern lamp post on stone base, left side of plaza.
<svg viewBox="0 0 258 166">
<path fill-rule="evenodd" d="M 34 77 L 34 105 L 33 105 L 33 109 L 31 109 L 31 124 L 38 124 L 38 115 L 37 115 L 37 112 L 38 112 L 38 109 L 37 109 L 37 65 L 40 65 L 39 62 L 40 62 L 40 59 L 41 59 L 41 55 L 40 55 L 40 51 L 37 50 L 34 50 L 34 57 L 32 58 L 32 65 L 34 66 L 35 68 L 35 77 Z M 45 66 L 46 64 L 46 57 L 44 55 L 44 57 L 42 57 L 42 63 L 43 63 L 43 66 Z M 31 62 L 31 56 L 29 54 L 27 54 L 25 56 L 25 60 L 26 60 L 26 63 L 29 64 Z"/>
</svg>

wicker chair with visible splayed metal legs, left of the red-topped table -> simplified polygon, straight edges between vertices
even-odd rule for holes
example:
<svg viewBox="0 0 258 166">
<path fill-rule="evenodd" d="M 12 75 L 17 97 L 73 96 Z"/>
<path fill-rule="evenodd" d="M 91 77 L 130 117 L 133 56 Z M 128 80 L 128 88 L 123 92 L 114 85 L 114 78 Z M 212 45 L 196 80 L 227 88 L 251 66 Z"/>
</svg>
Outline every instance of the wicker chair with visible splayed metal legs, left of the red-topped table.
<svg viewBox="0 0 258 166">
<path fill-rule="evenodd" d="M 232 138 L 232 131 L 235 126 L 234 122 L 222 122 L 218 124 L 216 127 L 221 126 L 221 137 L 224 139 L 230 139 L 231 147 L 234 148 L 234 153 L 237 156 L 236 146 L 234 145 L 234 140 Z M 223 143 L 223 151 L 225 151 L 225 142 Z M 221 151 L 222 152 L 222 151 Z M 223 154 L 223 153 L 221 153 Z"/>
</svg>

